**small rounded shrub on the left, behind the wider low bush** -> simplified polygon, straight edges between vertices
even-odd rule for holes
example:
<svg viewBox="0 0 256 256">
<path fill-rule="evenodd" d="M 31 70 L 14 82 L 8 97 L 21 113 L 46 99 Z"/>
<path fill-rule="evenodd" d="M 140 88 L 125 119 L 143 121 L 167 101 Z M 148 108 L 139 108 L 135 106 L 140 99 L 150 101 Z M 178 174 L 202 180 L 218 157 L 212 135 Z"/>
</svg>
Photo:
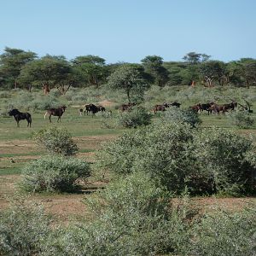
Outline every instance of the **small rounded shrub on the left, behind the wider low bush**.
<svg viewBox="0 0 256 256">
<path fill-rule="evenodd" d="M 79 151 L 67 129 L 56 126 L 38 131 L 34 139 L 50 154 L 73 155 Z"/>
</svg>

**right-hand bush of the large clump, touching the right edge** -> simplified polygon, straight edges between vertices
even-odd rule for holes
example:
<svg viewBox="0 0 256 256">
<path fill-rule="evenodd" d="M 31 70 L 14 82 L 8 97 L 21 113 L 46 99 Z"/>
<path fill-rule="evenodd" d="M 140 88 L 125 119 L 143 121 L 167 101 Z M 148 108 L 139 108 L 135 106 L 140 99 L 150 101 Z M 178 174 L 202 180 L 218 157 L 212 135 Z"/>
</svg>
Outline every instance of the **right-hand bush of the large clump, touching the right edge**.
<svg viewBox="0 0 256 256">
<path fill-rule="evenodd" d="M 211 136 L 209 136 L 209 134 Z M 207 133 L 195 133 L 191 150 L 201 169 L 209 173 L 212 189 L 236 195 L 250 189 L 249 181 L 255 172 L 253 154 L 255 147 L 251 140 L 223 129 L 207 129 Z"/>
</svg>

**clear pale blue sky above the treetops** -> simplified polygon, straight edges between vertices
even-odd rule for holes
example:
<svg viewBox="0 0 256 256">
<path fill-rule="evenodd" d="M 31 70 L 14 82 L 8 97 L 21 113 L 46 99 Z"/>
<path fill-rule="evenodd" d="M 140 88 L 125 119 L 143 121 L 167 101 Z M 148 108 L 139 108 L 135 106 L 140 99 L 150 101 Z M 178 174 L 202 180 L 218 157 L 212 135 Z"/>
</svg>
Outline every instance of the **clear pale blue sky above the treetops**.
<svg viewBox="0 0 256 256">
<path fill-rule="evenodd" d="M 99 55 L 108 63 L 146 55 L 182 61 L 256 58 L 256 0 L 0 0 L 0 54 Z"/>
</svg>

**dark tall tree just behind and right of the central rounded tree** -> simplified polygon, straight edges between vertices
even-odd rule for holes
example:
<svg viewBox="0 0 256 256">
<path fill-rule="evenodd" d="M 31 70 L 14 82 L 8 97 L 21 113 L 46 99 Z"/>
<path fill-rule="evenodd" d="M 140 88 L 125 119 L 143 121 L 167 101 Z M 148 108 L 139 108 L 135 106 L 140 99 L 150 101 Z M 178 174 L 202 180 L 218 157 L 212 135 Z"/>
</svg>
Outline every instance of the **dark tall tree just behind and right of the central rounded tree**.
<svg viewBox="0 0 256 256">
<path fill-rule="evenodd" d="M 168 71 L 163 67 L 163 58 L 157 55 L 148 55 L 143 60 L 145 72 L 151 75 L 154 84 L 163 86 L 168 80 Z"/>
</svg>

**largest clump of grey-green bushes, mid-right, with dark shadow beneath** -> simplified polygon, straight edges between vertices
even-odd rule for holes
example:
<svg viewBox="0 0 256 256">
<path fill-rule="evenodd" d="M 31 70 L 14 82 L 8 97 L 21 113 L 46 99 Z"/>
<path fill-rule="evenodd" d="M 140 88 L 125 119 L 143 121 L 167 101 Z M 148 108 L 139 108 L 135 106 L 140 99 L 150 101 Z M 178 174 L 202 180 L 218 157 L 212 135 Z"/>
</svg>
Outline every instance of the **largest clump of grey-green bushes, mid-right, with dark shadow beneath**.
<svg viewBox="0 0 256 256">
<path fill-rule="evenodd" d="M 231 131 L 206 131 L 164 122 L 126 132 L 96 154 L 96 167 L 118 175 L 147 172 L 176 193 L 186 187 L 193 194 L 235 195 L 253 189 L 249 185 L 256 169 L 253 143 Z"/>
</svg>

